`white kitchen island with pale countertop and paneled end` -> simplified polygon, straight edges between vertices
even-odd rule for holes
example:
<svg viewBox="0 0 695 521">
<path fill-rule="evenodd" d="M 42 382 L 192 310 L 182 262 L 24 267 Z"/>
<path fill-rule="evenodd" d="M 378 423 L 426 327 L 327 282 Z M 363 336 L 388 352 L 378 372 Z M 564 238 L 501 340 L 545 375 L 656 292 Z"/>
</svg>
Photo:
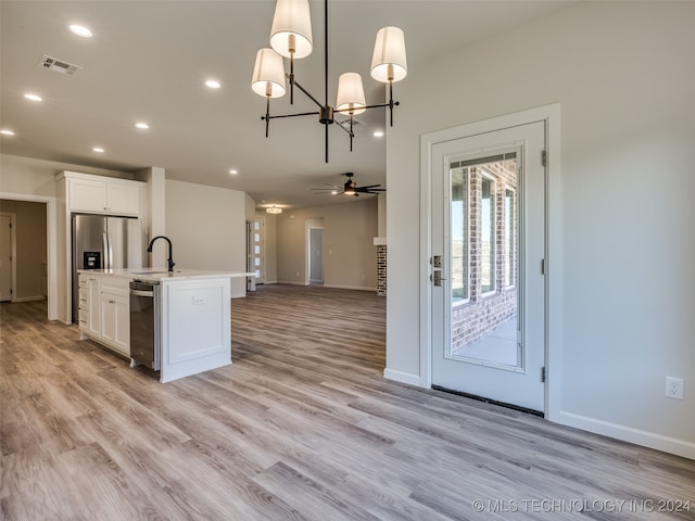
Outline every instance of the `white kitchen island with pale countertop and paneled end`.
<svg viewBox="0 0 695 521">
<path fill-rule="evenodd" d="M 135 312 L 135 317 L 139 310 L 131 306 L 140 304 L 131 296 L 130 282 L 140 281 L 156 289 L 149 334 L 157 360 L 151 369 L 159 370 L 161 382 L 227 366 L 231 364 L 231 278 L 250 276 L 194 269 L 80 270 L 80 339 L 94 340 L 130 358 L 131 366 L 138 365 L 142 357 L 140 351 L 131 353 L 131 335 L 144 333 L 141 319 L 131 331 L 130 314 Z M 134 338 L 138 350 L 140 340 Z"/>
</svg>

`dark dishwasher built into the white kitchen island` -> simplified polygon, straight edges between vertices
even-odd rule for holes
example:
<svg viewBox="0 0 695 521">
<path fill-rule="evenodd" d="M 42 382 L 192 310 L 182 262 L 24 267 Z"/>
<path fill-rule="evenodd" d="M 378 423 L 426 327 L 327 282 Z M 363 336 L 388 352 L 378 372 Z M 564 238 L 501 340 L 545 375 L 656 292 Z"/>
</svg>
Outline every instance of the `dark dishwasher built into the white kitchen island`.
<svg viewBox="0 0 695 521">
<path fill-rule="evenodd" d="M 130 358 L 155 371 L 162 355 L 160 302 L 159 282 L 130 282 Z"/>
</svg>

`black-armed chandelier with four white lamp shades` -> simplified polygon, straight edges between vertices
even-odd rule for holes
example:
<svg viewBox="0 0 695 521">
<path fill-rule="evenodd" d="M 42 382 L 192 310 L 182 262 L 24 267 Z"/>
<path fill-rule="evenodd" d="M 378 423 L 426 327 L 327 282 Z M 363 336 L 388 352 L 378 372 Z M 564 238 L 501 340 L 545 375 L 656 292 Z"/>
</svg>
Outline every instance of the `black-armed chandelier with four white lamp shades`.
<svg viewBox="0 0 695 521">
<path fill-rule="evenodd" d="M 306 58 L 312 53 L 312 20 L 308 0 L 277 0 L 275 16 L 270 29 L 270 48 L 258 50 L 253 67 L 251 88 L 266 99 L 265 137 L 268 137 L 270 119 L 280 117 L 298 117 L 317 115 L 318 123 L 325 126 L 326 163 L 328 163 L 328 128 L 336 122 L 336 114 L 350 117 L 350 128 L 342 123 L 338 126 L 350 136 L 352 152 L 353 117 L 367 109 L 389 107 L 391 126 L 393 126 L 393 84 L 407 75 L 405 56 L 405 37 L 397 27 L 382 27 L 377 33 L 371 58 L 371 77 L 377 81 L 389 84 L 389 102 L 367 105 L 362 76 L 357 73 L 344 73 L 338 78 L 338 96 L 336 105 L 328 104 L 328 0 L 324 0 L 324 102 L 319 102 L 294 77 L 294 60 Z M 290 59 L 290 72 L 285 71 L 283 58 Z M 318 107 L 314 112 L 270 115 L 270 98 L 281 98 L 286 92 L 286 79 L 290 80 L 290 104 L 294 103 L 294 87 L 312 100 Z"/>
</svg>

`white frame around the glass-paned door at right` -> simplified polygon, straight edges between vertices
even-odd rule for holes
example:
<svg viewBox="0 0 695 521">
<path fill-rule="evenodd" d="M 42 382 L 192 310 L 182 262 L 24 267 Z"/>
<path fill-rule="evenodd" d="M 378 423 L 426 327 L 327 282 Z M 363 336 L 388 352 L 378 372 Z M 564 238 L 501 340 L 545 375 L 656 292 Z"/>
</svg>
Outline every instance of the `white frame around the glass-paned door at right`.
<svg viewBox="0 0 695 521">
<path fill-rule="evenodd" d="M 455 139 L 504 128 L 545 122 L 545 418 L 554 421 L 560 415 L 559 382 L 553 379 L 553 367 L 563 366 L 561 331 L 561 207 L 560 207 L 560 105 L 530 109 L 420 136 L 420 385 L 432 386 L 432 255 L 431 180 L 432 147 Z"/>
</svg>

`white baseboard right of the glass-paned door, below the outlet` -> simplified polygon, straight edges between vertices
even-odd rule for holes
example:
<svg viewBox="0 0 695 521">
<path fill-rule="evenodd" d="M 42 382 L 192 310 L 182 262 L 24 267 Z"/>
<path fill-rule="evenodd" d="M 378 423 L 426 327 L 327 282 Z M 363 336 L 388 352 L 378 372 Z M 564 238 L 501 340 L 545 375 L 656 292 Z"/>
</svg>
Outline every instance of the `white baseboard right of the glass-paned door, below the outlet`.
<svg viewBox="0 0 695 521">
<path fill-rule="evenodd" d="M 643 445 L 657 450 L 664 450 L 665 453 L 675 454 L 684 458 L 695 459 L 695 443 L 566 411 L 560 411 L 559 418 L 556 418 L 556 421 L 557 423 L 583 431 L 615 437 L 616 440 Z"/>
</svg>

